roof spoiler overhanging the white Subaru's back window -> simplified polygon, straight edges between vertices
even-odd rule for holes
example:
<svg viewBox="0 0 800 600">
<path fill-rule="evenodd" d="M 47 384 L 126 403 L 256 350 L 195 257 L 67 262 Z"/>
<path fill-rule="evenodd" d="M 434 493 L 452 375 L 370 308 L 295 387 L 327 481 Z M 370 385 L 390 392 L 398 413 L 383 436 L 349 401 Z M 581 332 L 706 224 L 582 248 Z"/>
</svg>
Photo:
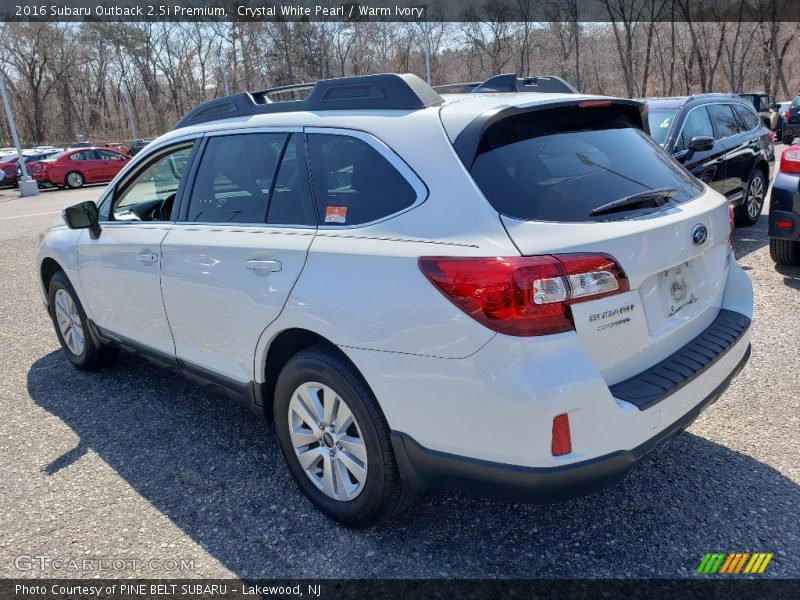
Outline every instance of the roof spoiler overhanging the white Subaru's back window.
<svg viewBox="0 0 800 600">
<path fill-rule="evenodd" d="M 576 99 L 559 99 L 553 102 L 540 102 L 524 106 L 497 106 L 475 117 L 461 133 L 453 140 L 456 154 L 467 169 L 472 168 L 481 140 L 492 125 L 524 113 L 538 110 L 552 110 L 562 107 L 578 106 L 585 108 L 602 108 L 618 106 L 624 108 L 631 121 L 646 134 L 650 135 L 650 125 L 647 120 L 647 105 L 640 100 L 627 98 L 586 97 Z"/>
</svg>

